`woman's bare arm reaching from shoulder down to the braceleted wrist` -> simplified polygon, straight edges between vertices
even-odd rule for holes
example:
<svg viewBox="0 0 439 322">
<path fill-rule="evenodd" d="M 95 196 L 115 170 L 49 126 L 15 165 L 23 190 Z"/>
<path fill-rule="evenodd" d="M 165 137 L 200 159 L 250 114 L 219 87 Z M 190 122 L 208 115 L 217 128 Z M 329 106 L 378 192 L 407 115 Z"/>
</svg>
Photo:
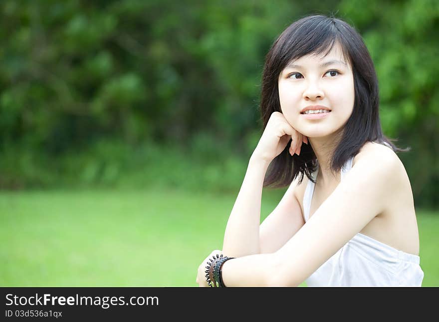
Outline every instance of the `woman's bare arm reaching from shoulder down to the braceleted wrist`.
<svg viewBox="0 0 439 322">
<path fill-rule="evenodd" d="M 395 202 L 398 157 L 393 153 L 360 158 L 310 220 L 277 252 L 229 260 L 222 279 L 233 286 L 298 286 Z M 251 272 L 251 274 L 249 274 Z"/>
</svg>

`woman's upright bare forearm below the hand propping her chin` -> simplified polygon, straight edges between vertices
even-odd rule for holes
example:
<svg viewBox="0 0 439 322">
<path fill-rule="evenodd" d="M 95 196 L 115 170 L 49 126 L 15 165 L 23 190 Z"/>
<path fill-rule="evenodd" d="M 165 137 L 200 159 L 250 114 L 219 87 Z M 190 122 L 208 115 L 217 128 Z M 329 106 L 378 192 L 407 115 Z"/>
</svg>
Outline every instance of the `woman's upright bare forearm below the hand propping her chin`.
<svg viewBox="0 0 439 322">
<path fill-rule="evenodd" d="M 259 253 L 262 186 L 269 163 L 250 158 L 236 201 L 227 221 L 222 253 L 241 257 Z"/>
</svg>

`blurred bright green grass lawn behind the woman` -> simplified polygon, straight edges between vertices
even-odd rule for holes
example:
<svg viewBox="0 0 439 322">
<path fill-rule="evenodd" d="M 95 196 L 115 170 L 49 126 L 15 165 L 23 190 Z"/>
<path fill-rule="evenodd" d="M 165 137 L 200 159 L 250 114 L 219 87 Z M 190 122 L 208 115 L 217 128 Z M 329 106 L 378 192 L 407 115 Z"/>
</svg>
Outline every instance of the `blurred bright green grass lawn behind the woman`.
<svg viewBox="0 0 439 322">
<path fill-rule="evenodd" d="M 264 190 L 262 219 L 282 194 Z M 0 285 L 197 286 L 201 261 L 222 247 L 235 198 L 172 190 L 2 192 Z M 439 213 L 417 216 L 423 286 L 439 286 Z"/>
</svg>

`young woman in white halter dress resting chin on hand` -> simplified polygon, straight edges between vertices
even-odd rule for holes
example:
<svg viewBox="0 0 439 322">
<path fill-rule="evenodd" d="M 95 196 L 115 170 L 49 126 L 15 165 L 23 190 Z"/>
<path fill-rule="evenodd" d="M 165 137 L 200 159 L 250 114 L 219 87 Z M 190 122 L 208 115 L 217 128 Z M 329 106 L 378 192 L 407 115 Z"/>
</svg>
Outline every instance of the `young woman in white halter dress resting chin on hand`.
<svg viewBox="0 0 439 322">
<path fill-rule="evenodd" d="M 413 194 L 395 153 L 406 150 L 383 135 L 377 76 L 355 29 L 322 15 L 287 27 L 266 56 L 260 108 L 264 131 L 222 252 L 197 283 L 421 286 Z M 259 226 L 267 185 L 289 188 Z"/>
</svg>

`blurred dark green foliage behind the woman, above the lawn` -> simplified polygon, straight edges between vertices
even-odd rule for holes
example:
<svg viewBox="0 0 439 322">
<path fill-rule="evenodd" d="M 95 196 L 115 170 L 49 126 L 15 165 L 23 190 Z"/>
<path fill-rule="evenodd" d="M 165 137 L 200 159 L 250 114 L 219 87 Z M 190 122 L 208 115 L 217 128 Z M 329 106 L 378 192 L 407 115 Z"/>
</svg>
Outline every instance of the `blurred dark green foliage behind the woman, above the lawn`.
<svg viewBox="0 0 439 322">
<path fill-rule="evenodd" d="M 265 54 L 291 22 L 322 13 L 365 39 L 384 132 L 412 147 L 400 158 L 415 202 L 439 205 L 436 0 L 3 0 L 0 10 L 3 189 L 239 185 L 261 133 Z"/>
</svg>

